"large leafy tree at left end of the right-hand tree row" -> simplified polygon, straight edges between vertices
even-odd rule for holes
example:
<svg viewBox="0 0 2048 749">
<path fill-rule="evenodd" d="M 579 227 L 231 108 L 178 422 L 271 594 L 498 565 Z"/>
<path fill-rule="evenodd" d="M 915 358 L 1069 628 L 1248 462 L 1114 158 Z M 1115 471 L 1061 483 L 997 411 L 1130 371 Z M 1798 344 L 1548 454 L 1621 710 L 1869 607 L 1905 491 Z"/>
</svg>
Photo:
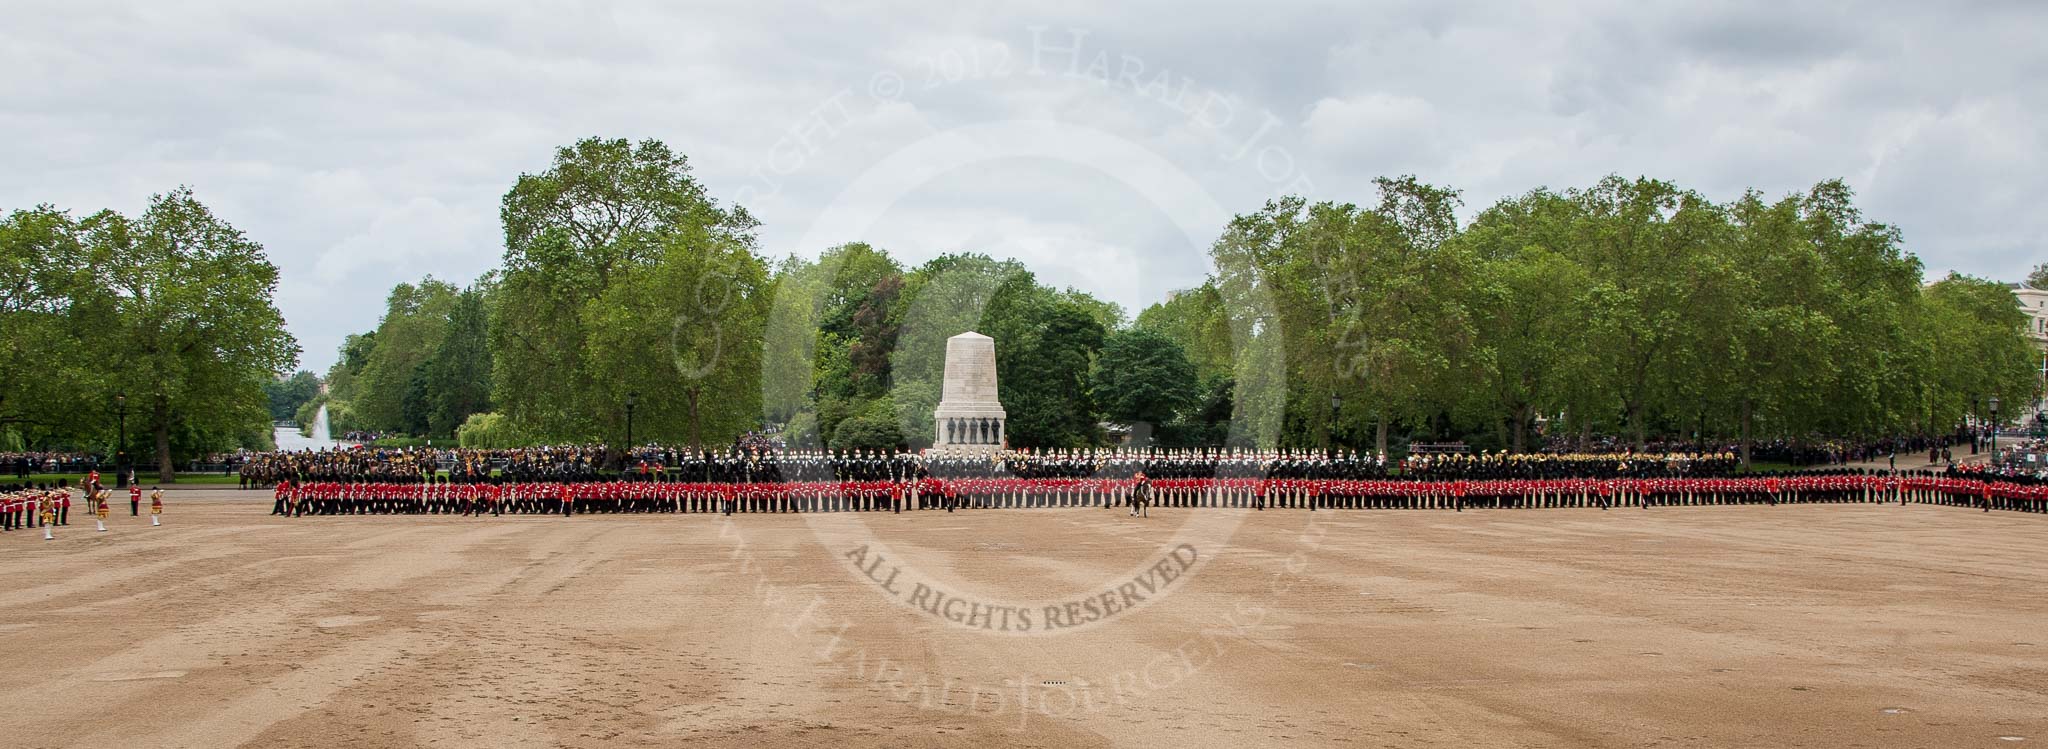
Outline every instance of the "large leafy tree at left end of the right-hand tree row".
<svg viewBox="0 0 2048 749">
<path fill-rule="evenodd" d="M 1231 221 L 1210 248 L 1217 291 L 1255 332 L 1239 362 L 1284 366 L 1278 403 L 1239 399 L 1255 411 L 1278 409 L 1276 424 L 1239 413 L 1262 432 L 1276 430 L 1260 442 L 1329 442 L 1333 417 L 1350 417 L 1372 424 L 1384 448 L 1393 424 L 1438 413 L 1434 395 L 1466 356 L 1470 321 L 1458 295 L 1468 268 L 1448 244 L 1458 231 L 1456 192 L 1415 178 L 1382 178 L 1378 188 L 1370 209 L 1272 201 Z M 1239 366 L 1237 385 L 1262 385 L 1274 372 L 1274 364 Z M 1343 413 L 1331 413 L 1331 397 L 1343 399 Z"/>
</svg>

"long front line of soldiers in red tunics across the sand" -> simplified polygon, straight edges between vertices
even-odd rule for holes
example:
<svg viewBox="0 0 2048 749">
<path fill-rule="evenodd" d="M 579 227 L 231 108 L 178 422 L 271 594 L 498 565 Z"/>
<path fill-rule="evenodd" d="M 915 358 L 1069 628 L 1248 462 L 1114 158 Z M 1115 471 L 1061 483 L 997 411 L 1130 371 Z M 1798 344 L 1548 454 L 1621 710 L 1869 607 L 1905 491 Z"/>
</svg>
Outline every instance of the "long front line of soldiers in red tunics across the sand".
<svg viewBox="0 0 2048 749">
<path fill-rule="evenodd" d="M 1186 475 L 1174 467 L 1133 465 L 1130 475 L 1034 475 L 967 471 L 866 481 L 791 481 L 741 475 L 713 481 L 492 481 L 492 483 L 287 483 L 272 514 L 752 514 L 752 512 L 905 512 L 967 508 L 1122 508 L 1143 481 L 1159 508 L 1292 510 L 1464 510 L 1464 508 L 1661 508 L 1720 503 L 1931 501 L 2040 512 L 2048 487 L 2028 481 L 1976 481 L 1942 475 L 1823 471 L 1794 475 L 1690 477 L 1378 477 L 1323 479 L 1260 473 Z M 1169 469 L 1169 471 L 1155 471 Z M 1141 479 L 1143 477 L 1143 479 Z"/>
</svg>

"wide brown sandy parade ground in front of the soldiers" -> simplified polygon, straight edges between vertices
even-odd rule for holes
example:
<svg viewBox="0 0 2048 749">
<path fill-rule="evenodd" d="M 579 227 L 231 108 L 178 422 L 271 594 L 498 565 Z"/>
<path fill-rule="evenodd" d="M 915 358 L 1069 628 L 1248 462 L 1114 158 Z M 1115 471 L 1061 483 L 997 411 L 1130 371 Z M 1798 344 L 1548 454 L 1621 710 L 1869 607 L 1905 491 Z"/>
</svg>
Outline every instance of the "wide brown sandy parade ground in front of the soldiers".
<svg viewBox="0 0 2048 749">
<path fill-rule="evenodd" d="M 2034 514 L 166 503 L 0 536 L 0 747 L 2048 745 Z"/>
</svg>

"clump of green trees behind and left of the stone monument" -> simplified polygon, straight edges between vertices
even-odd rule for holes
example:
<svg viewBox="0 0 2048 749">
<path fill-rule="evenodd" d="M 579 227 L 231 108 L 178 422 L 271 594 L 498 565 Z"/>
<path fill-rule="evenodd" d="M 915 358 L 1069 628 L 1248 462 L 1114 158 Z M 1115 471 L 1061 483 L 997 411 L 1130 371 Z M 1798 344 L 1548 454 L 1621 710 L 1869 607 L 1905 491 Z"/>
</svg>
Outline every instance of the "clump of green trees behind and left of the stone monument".
<svg viewBox="0 0 2048 749">
<path fill-rule="evenodd" d="M 944 342 L 969 329 L 1001 342 L 1016 444 L 1102 444 L 1106 413 L 1178 411 L 1178 393 L 1194 393 L 1171 340 L 1014 260 L 909 268 L 846 244 L 770 264 L 754 219 L 709 199 L 659 141 L 563 147 L 516 180 L 502 219 L 504 266 L 467 289 L 393 289 L 305 415 L 326 405 L 340 432 L 465 444 L 618 442 L 631 411 L 635 442 L 715 446 L 774 424 L 797 444 L 924 446 Z M 1120 350 L 1180 362 L 1153 372 L 1171 407 L 1100 387 Z"/>
</svg>

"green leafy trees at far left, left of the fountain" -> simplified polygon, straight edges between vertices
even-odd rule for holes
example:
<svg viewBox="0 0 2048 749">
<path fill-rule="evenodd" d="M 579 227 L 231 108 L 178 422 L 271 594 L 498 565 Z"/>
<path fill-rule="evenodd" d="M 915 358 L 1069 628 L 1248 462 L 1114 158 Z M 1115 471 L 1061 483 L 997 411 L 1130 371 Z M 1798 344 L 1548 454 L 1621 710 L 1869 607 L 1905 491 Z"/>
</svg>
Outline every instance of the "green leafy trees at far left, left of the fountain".
<svg viewBox="0 0 2048 749">
<path fill-rule="evenodd" d="M 160 481 L 180 458 L 268 448 L 266 385 L 299 356 L 274 293 L 262 246 L 188 188 L 135 217 L 6 215 L 0 448 L 96 452 Z"/>
</svg>

